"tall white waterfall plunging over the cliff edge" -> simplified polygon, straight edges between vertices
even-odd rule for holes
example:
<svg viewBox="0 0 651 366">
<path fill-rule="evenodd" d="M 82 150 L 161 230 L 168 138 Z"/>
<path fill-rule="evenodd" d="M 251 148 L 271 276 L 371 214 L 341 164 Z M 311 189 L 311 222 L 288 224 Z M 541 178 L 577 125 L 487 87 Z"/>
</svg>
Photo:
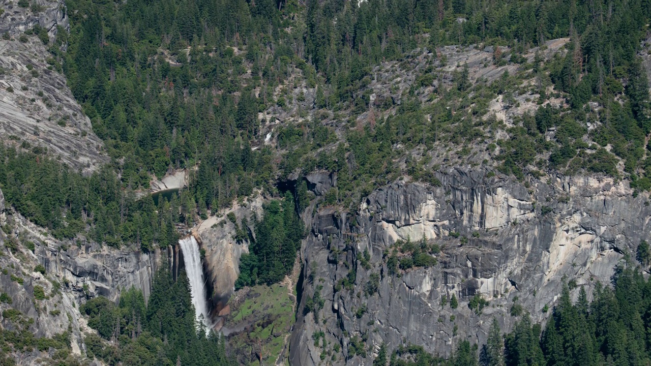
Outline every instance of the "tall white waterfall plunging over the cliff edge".
<svg viewBox="0 0 651 366">
<path fill-rule="evenodd" d="M 203 315 L 203 322 L 206 325 L 206 333 L 210 331 L 208 322 L 208 307 L 206 307 L 206 289 L 204 287 L 203 267 L 201 266 L 201 255 L 199 254 L 199 243 L 194 236 L 178 240 L 183 251 L 183 261 L 186 264 L 187 279 L 190 283 L 190 294 L 192 305 L 195 305 L 195 316 L 199 322 Z"/>
</svg>

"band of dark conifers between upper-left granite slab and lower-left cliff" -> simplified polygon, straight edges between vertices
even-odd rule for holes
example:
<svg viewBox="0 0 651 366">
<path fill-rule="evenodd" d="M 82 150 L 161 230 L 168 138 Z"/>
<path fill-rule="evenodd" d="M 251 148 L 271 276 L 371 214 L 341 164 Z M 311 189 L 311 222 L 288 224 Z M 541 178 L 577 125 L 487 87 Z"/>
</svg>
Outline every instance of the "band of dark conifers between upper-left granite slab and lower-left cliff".
<svg viewBox="0 0 651 366">
<path fill-rule="evenodd" d="M 157 208 L 150 195 L 136 200 L 133 191 L 122 190 L 109 167 L 83 176 L 43 154 L 3 145 L 0 187 L 18 212 L 51 229 L 55 238 L 72 238 L 90 226 L 97 242 L 134 243 L 147 251 L 154 244 L 177 242 L 174 223 L 191 216 L 184 193 L 170 202 L 159 200 Z"/>
</svg>

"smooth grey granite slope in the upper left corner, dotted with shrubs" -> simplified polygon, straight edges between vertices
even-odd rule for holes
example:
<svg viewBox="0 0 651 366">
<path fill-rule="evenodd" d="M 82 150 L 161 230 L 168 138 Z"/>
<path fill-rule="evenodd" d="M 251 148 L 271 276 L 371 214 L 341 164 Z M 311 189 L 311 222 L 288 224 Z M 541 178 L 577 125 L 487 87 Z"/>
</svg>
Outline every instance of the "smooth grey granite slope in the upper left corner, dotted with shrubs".
<svg viewBox="0 0 651 366">
<path fill-rule="evenodd" d="M 57 29 L 69 27 L 66 8 L 63 1 L 32 3 L 39 12 L 34 12 L 37 7 L 5 1 L 0 16 L 0 33 L 9 38 L 0 47 L 0 136 L 23 148 L 47 149 L 49 156 L 89 173 L 107 161 L 100 153 L 102 141 L 92 132 L 47 46 L 36 35 L 20 40 L 25 37 L 21 33 L 38 24 L 53 42 Z"/>
</svg>

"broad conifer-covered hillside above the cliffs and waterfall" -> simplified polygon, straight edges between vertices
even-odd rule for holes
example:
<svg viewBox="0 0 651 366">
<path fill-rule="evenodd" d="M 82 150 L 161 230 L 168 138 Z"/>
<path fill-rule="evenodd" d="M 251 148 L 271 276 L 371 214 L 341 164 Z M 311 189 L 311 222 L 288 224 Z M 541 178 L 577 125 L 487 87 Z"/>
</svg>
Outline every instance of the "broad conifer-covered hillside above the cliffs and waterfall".
<svg viewBox="0 0 651 366">
<path fill-rule="evenodd" d="M 433 144 L 460 149 L 463 161 L 469 150 L 461 147 L 484 142 L 489 165 L 518 178 L 585 169 L 629 178 L 640 190 L 651 187 L 645 169 L 648 83 L 636 57 L 648 32 L 648 1 L 66 5 L 72 29 L 59 38 L 69 46 L 50 49 L 113 158 L 103 173 L 113 178 L 106 181 L 115 181 L 124 193 L 74 203 L 81 198 L 74 193 L 77 188 L 61 182 L 62 189 L 50 190 L 56 196 L 48 199 L 30 194 L 18 201 L 18 195 L 8 195 L 21 212 L 38 216 L 38 223 L 63 236 L 85 226 L 74 221 L 83 208 L 86 217 L 94 218 L 85 224 L 96 229 L 96 240 L 145 242 L 145 247 L 165 242 L 158 232 L 141 240 L 139 223 L 124 225 L 134 220 L 125 218 L 124 202 L 128 191 L 146 187 L 150 176 L 174 167 L 198 170 L 189 191 L 173 203 L 185 208 L 183 214 L 174 214 L 163 227 L 171 221 L 191 224 L 254 188 L 272 190 L 279 176 L 313 169 L 338 171 L 339 192 L 333 199 L 354 206 L 374 186 L 400 175 L 427 180 L 422 169 L 440 166 L 429 163 L 431 157 L 416 154 L 407 165 L 398 161 L 414 148 Z M 547 62 L 538 53 L 533 60 L 522 57 L 557 37 L 570 38 L 566 52 Z M 436 49 L 478 43 L 508 46 L 504 54 L 495 49 L 493 63 L 516 64 L 518 72 L 473 84 L 461 70 L 446 82 L 437 71 L 445 59 Z M 403 95 L 370 102 L 374 65 L 404 64 L 406 53 L 417 47 L 436 51 L 432 64 L 419 70 Z M 509 139 L 496 139 L 495 130 L 504 127 L 486 120 L 488 104 L 497 96 L 512 100 L 523 92 L 521 83 L 533 84 L 529 89 L 538 104 L 557 96 L 565 104 L 523 115 L 506 128 Z M 434 92 L 423 102 L 419 94 L 431 85 Z M 547 96 L 550 90 L 554 94 Z M 599 107 L 587 107 L 589 102 Z M 260 112 L 267 117 L 260 120 Z M 264 143 L 261 131 L 271 132 L 266 124 L 273 116 L 293 122 L 276 126 L 275 143 Z M 549 129 L 555 135 L 543 139 Z M 32 152 L 31 159 L 46 155 L 38 148 Z M 3 162 L 2 170 L 10 169 L 10 158 Z M 5 190 L 12 186 L 2 180 Z M 97 204 L 104 207 L 102 213 L 89 207 Z M 151 221 L 148 209 L 140 210 L 135 221 Z M 127 216 L 137 211 L 130 209 Z M 58 219 L 45 223 L 43 215 L 64 216 L 70 225 L 63 230 Z"/>
</svg>

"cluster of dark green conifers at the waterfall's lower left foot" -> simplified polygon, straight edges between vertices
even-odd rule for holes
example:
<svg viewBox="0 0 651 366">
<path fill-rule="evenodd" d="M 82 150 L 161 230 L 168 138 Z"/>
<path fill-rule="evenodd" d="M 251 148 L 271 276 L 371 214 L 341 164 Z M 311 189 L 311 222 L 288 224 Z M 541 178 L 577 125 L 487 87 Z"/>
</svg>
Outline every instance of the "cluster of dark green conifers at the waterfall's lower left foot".
<svg viewBox="0 0 651 366">
<path fill-rule="evenodd" d="M 86 335 L 90 357 L 108 364 L 231 365 L 223 339 L 195 323 L 189 283 L 181 272 L 173 281 L 167 266 L 154 276 L 148 305 L 139 290 L 122 292 L 115 305 L 107 298 L 92 298 L 79 307 L 89 317 L 89 326 L 97 335 Z M 104 340 L 117 338 L 115 349 Z"/>
</svg>

